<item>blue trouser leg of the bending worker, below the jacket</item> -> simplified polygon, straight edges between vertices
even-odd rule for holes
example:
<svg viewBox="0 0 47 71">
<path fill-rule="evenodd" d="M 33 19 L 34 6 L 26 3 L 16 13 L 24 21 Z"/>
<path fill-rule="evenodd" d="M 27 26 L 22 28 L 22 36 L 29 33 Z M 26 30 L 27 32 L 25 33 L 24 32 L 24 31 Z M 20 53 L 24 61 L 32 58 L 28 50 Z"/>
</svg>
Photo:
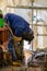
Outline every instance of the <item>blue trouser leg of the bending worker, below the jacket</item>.
<svg viewBox="0 0 47 71">
<path fill-rule="evenodd" d="M 16 59 L 16 55 L 15 55 L 15 49 L 14 49 L 12 39 L 8 44 L 8 50 L 11 52 L 12 60 L 15 60 Z"/>
</svg>

